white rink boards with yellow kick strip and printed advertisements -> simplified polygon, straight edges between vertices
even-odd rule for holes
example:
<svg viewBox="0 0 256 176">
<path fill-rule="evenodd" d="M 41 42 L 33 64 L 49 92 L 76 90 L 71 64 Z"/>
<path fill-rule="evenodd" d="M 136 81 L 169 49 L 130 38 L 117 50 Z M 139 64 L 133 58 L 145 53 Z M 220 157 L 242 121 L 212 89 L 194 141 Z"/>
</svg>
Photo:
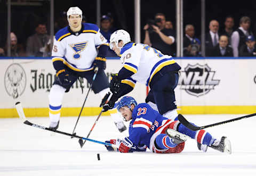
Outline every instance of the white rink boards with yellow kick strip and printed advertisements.
<svg viewBox="0 0 256 176">
<path fill-rule="evenodd" d="M 176 58 L 181 65 L 175 95 L 182 114 L 246 114 L 256 112 L 256 60 L 254 58 Z M 21 102 L 27 116 L 47 116 L 48 95 L 55 79 L 51 58 L 1 58 L 0 117 L 17 117 L 15 102 Z M 116 73 L 121 62 L 108 58 L 106 73 Z M 82 94 L 82 88 L 83 94 Z M 89 85 L 73 85 L 63 98 L 61 116 L 76 116 Z M 145 102 L 146 86 L 137 83 L 131 94 Z M 101 98 L 90 92 L 82 115 L 98 115 Z M 108 115 L 104 113 L 103 115 Z"/>
</svg>

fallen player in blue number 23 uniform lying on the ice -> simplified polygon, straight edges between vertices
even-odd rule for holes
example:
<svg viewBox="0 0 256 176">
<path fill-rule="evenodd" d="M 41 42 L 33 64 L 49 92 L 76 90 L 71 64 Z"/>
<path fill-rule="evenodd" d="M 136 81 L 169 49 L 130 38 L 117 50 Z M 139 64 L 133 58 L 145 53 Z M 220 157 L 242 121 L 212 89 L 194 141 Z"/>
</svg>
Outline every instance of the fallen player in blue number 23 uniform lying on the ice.
<svg viewBox="0 0 256 176">
<path fill-rule="evenodd" d="M 106 146 L 107 150 L 122 153 L 145 152 L 148 147 L 154 153 L 180 153 L 185 141 L 193 138 L 198 148 L 207 151 L 211 147 L 223 153 L 231 154 L 231 144 L 227 137 L 215 139 L 205 130 L 192 131 L 178 120 L 170 120 L 153 110 L 148 104 L 140 103 L 131 96 L 124 96 L 117 103 L 117 110 L 125 121 L 130 121 L 129 137 L 111 139 L 106 143 L 115 144 L 117 148 Z"/>
</svg>

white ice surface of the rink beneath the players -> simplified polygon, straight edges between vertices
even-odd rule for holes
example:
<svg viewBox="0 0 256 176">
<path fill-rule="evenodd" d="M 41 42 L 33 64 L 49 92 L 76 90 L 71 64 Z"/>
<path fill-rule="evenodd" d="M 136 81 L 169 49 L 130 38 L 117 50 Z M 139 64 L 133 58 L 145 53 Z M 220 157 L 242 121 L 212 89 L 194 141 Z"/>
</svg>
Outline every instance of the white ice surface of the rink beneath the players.
<svg viewBox="0 0 256 176">
<path fill-rule="evenodd" d="M 242 114 L 243 115 L 243 114 Z M 239 115 L 185 115 L 197 125 L 237 118 Z M 77 135 L 86 137 L 97 116 L 82 117 Z M 48 127 L 48 118 L 27 118 Z M 60 119 L 58 130 L 71 133 L 77 117 Z M 78 139 L 23 124 L 18 118 L 0 119 L 0 175 L 256 175 L 256 117 L 207 128 L 212 136 L 227 136 L 232 154 L 212 148 L 207 153 L 189 139 L 180 154 L 108 152 L 104 145 L 86 141 L 81 149 Z M 101 116 L 89 138 L 105 141 L 123 137 L 110 116 Z M 97 158 L 100 154 L 100 160 Z"/>
</svg>

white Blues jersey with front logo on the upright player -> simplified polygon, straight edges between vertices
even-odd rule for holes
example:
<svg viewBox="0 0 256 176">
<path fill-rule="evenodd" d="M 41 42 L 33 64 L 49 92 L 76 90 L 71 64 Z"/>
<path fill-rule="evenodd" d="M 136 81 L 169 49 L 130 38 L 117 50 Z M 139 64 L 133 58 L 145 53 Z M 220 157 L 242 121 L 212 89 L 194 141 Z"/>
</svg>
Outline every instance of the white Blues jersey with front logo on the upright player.
<svg viewBox="0 0 256 176">
<path fill-rule="evenodd" d="M 73 32 L 69 27 L 65 27 L 55 35 L 52 61 L 62 61 L 70 69 L 79 72 L 93 70 L 92 63 L 100 45 L 108 45 L 108 43 L 99 32 L 97 25 L 82 23 L 79 32 Z"/>
</svg>

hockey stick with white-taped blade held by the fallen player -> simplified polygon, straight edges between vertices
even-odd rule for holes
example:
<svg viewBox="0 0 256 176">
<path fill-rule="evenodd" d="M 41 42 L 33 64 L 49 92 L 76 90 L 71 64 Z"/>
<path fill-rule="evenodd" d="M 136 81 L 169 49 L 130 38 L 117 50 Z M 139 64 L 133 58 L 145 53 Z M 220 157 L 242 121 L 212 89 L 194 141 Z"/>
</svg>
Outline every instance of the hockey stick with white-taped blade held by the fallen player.
<svg viewBox="0 0 256 176">
<path fill-rule="evenodd" d="M 74 135 L 74 134 L 70 134 L 70 133 L 63 132 L 63 131 L 58 131 L 58 130 L 53 130 L 53 129 L 50 129 L 50 128 L 47 128 L 47 127 L 43 127 L 43 126 L 38 125 L 38 124 L 31 123 L 31 122 L 29 122 L 29 121 L 26 119 L 26 116 L 25 116 L 25 114 L 24 114 L 24 112 L 23 112 L 23 108 L 22 108 L 22 106 L 21 106 L 21 103 L 20 103 L 20 102 L 17 102 L 17 103 L 15 104 L 15 106 L 16 106 L 16 110 L 17 110 L 17 112 L 18 112 L 18 114 L 19 114 L 19 117 L 20 117 L 20 119 L 23 121 L 24 124 L 30 125 L 30 126 L 32 126 L 32 127 L 40 128 L 40 129 L 43 129 L 43 130 L 48 130 L 48 131 L 52 131 L 52 132 L 57 132 L 57 133 L 60 133 L 60 134 L 62 134 L 62 135 L 71 136 L 71 137 L 73 137 L 73 138 L 79 138 L 79 139 L 81 139 L 81 140 L 82 140 L 82 139 L 84 139 L 84 140 L 89 140 L 89 141 L 91 141 L 91 142 L 93 142 L 93 143 L 103 144 L 103 145 L 107 145 L 107 146 L 111 146 L 111 147 L 113 147 L 113 148 L 116 148 L 116 145 L 114 145 L 114 144 L 104 143 L 104 142 L 99 141 L 99 140 L 93 140 L 93 139 L 89 139 L 89 138 L 84 138 L 84 137 L 76 136 L 76 135 Z"/>
</svg>

